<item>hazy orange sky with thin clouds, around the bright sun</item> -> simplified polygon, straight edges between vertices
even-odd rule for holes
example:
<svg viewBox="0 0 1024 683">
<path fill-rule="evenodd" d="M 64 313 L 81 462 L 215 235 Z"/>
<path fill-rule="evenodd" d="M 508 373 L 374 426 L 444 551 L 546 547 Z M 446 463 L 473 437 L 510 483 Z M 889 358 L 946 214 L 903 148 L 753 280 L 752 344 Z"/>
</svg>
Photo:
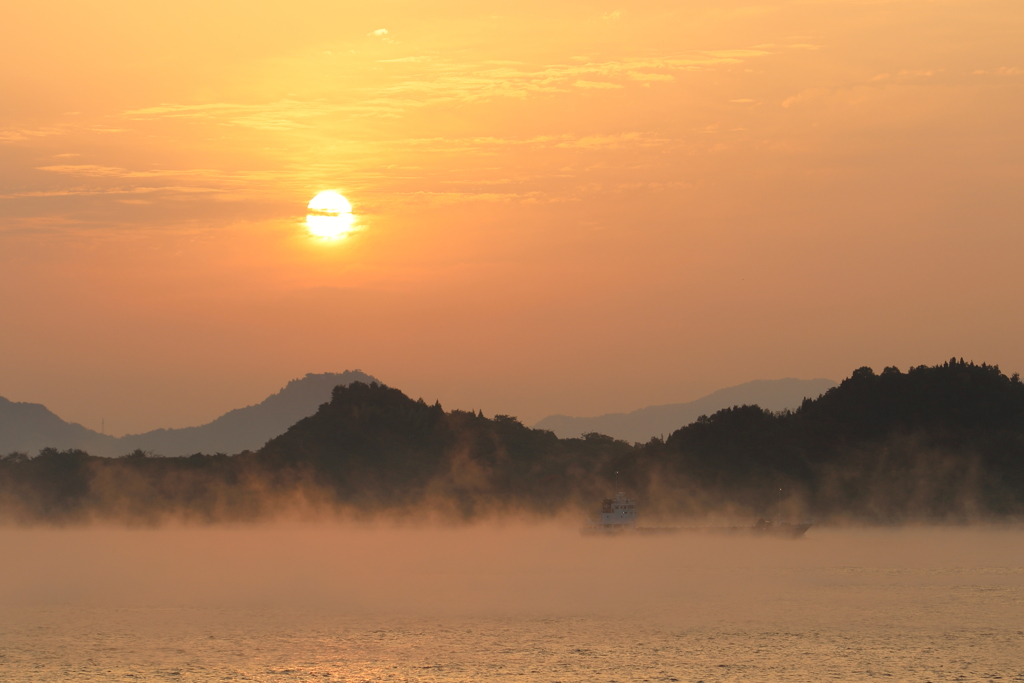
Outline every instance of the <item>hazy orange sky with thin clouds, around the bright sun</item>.
<svg viewBox="0 0 1024 683">
<path fill-rule="evenodd" d="M 15 3 L 0 395 L 120 434 L 355 368 L 527 423 L 1024 371 L 1022 46 L 1019 0 Z"/>
</svg>

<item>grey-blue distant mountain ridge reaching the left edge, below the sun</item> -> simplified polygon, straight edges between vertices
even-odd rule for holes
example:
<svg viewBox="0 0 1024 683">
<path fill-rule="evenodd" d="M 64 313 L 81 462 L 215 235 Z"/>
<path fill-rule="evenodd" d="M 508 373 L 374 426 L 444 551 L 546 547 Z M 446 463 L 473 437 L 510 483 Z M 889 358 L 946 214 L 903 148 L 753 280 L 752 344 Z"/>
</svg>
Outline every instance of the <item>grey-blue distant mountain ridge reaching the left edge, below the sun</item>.
<svg viewBox="0 0 1024 683">
<path fill-rule="evenodd" d="M 331 400 L 331 391 L 352 382 L 377 382 L 361 371 L 308 374 L 292 380 L 266 400 L 225 413 L 213 422 L 183 429 L 155 429 L 120 438 L 68 423 L 39 403 L 17 403 L 0 397 L 0 454 L 34 455 L 41 449 L 80 449 L 97 456 L 117 457 L 135 450 L 162 456 L 194 453 L 256 451 L 293 424 Z"/>
</svg>

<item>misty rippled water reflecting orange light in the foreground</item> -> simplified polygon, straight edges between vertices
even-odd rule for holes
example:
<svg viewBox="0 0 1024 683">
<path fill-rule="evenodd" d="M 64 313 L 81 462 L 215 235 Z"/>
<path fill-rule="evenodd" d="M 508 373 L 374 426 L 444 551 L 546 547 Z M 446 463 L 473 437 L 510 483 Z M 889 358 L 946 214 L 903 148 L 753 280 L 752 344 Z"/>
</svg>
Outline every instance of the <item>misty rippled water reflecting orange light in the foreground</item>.
<svg viewBox="0 0 1024 683">
<path fill-rule="evenodd" d="M 2 530 L 4 681 L 1024 681 L 1020 529 Z"/>
</svg>

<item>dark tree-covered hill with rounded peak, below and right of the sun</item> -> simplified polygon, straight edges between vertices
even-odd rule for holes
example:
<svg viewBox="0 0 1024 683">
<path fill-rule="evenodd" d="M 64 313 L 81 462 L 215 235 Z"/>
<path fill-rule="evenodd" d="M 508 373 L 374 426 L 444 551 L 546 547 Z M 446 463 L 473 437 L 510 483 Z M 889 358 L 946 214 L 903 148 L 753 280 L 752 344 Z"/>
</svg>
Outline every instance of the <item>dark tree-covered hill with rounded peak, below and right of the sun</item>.
<svg viewBox="0 0 1024 683">
<path fill-rule="evenodd" d="M 254 459 L 273 471 L 310 468 L 361 508 L 426 503 L 472 515 L 600 500 L 609 464 L 631 452 L 608 437 L 559 439 L 512 417 L 445 413 L 397 389 L 353 384 Z"/>
</svg>

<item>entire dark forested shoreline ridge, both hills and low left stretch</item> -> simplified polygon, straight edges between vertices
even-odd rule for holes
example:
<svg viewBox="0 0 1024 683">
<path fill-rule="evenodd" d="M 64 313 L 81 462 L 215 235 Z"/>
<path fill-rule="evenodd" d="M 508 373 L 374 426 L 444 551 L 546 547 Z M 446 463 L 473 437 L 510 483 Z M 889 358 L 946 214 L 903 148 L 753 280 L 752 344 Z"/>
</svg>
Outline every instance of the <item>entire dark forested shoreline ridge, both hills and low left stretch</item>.
<svg viewBox="0 0 1024 683">
<path fill-rule="evenodd" d="M 559 439 L 353 383 L 256 453 L 0 461 L 0 516 L 23 521 L 258 519 L 296 507 L 554 514 L 630 492 L 647 519 L 784 512 L 818 520 L 1024 515 L 1024 384 L 950 360 L 855 371 L 792 412 L 735 407 L 628 444 Z"/>
</svg>

